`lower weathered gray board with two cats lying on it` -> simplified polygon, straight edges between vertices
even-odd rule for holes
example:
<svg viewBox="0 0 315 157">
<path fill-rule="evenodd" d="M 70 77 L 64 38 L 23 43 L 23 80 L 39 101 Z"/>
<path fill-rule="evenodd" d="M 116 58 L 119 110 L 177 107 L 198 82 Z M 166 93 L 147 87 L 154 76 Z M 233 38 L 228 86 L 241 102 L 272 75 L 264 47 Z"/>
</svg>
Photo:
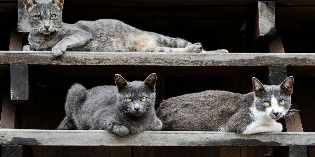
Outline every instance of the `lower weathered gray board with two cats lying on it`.
<svg viewBox="0 0 315 157">
<path fill-rule="evenodd" d="M 86 146 L 315 146 L 315 133 L 236 135 L 220 132 L 146 131 L 119 136 L 104 130 L 0 129 L 1 145 Z"/>
</svg>

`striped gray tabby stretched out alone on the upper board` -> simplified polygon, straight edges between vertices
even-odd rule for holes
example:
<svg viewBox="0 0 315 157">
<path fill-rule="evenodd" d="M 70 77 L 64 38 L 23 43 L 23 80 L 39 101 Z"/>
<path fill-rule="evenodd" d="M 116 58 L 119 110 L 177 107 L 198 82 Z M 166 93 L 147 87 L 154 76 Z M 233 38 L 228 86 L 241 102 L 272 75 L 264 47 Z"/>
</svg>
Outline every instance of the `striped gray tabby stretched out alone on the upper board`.
<svg viewBox="0 0 315 157">
<path fill-rule="evenodd" d="M 65 51 L 206 52 L 200 43 L 138 30 L 118 20 L 63 23 L 63 0 L 23 0 L 23 3 L 31 25 L 30 45 L 24 46 L 23 51 L 52 50 L 54 56 Z"/>
</svg>

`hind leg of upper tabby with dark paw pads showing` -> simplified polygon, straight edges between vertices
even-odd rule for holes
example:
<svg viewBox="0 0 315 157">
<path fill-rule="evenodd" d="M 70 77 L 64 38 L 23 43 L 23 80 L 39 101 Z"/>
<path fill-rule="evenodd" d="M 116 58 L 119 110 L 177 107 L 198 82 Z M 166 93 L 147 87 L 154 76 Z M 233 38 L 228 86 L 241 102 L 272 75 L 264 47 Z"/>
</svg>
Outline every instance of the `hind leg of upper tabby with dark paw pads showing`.
<svg viewBox="0 0 315 157">
<path fill-rule="evenodd" d="M 149 47 L 145 49 L 145 52 L 201 52 L 202 45 L 200 43 L 192 44 L 183 48 L 170 48 L 170 47 Z"/>
</svg>

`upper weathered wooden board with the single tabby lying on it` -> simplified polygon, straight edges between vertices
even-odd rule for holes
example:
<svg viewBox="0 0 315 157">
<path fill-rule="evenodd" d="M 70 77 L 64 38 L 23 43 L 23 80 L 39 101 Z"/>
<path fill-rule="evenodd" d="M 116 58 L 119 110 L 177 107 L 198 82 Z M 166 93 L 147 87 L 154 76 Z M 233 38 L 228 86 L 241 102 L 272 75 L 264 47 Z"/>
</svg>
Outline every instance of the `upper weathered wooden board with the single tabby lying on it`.
<svg viewBox="0 0 315 157">
<path fill-rule="evenodd" d="M 1 64 L 128 66 L 315 66 L 314 53 L 164 53 L 0 51 Z"/>
</svg>

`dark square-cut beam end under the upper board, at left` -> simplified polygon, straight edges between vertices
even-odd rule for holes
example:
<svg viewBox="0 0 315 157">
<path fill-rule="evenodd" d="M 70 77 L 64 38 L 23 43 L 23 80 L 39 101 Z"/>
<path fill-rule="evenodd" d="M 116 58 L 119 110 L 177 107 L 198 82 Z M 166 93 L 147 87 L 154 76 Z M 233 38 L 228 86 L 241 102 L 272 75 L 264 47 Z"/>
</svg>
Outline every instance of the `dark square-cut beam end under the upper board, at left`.
<svg viewBox="0 0 315 157">
<path fill-rule="evenodd" d="M 15 103 L 29 103 L 29 78 L 27 64 L 11 64 L 11 100 Z"/>
</svg>

